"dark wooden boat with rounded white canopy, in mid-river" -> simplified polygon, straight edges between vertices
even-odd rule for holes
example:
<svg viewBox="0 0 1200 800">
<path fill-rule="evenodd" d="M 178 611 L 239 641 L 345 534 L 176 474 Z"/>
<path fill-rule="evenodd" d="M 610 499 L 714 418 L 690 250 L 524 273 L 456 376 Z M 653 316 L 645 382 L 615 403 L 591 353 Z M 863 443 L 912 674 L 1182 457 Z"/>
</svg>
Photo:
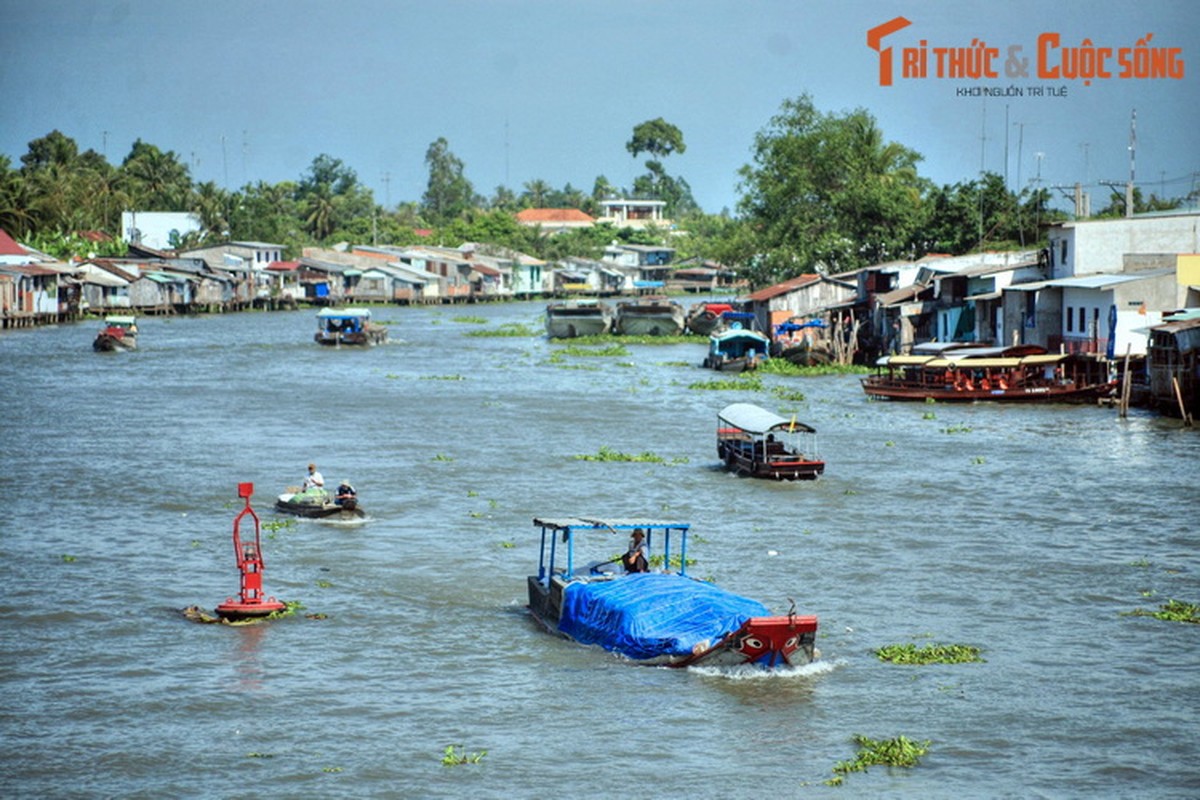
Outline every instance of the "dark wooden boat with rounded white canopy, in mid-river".
<svg viewBox="0 0 1200 800">
<path fill-rule="evenodd" d="M 776 481 L 814 480 L 824 473 L 816 431 L 750 403 L 716 415 L 716 455 L 739 475 Z"/>
</svg>

